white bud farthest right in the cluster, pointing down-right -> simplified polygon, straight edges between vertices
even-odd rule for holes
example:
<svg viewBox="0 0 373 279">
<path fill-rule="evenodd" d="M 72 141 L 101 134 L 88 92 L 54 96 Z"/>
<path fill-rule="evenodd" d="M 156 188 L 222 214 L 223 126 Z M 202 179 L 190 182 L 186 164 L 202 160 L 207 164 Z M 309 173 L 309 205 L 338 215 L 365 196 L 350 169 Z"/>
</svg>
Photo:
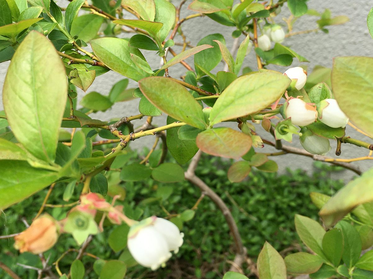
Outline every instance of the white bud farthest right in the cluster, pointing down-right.
<svg viewBox="0 0 373 279">
<path fill-rule="evenodd" d="M 319 119 L 322 123 L 332 128 L 346 127 L 348 117 L 339 108 L 335 99 L 325 99 L 317 104 Z"/>
</svg>

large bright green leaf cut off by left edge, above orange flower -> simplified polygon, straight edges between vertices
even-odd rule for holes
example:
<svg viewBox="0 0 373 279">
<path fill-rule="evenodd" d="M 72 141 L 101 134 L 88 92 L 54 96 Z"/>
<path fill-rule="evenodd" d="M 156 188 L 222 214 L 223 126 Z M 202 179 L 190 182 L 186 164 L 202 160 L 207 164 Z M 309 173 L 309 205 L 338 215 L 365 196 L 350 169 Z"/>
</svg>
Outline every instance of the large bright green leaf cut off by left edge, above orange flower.
<svg viewBox="0 0 373 279">
<path fill-rule="evenodd" d="M 32 168 L 25 161 L 0 160 L 0 209 L 21 202 L 59 177 L 58 172 Z"/>
</svg>

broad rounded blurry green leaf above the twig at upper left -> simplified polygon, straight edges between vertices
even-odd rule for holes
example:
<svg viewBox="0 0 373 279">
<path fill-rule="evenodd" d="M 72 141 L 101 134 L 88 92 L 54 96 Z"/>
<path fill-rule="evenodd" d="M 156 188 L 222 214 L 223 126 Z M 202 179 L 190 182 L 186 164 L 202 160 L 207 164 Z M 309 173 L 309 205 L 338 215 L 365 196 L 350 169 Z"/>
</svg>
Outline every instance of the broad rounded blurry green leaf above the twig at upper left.
<svg viewBox="0 0 373 279">
<path fill-rule="evenodd" d="M 89 42 L 97 37 L 104 18 L 98 15 L 82 15 L 75 18 L 71 25 L 70 34 L 78 36 L 79 39 Z"/>
</svg>

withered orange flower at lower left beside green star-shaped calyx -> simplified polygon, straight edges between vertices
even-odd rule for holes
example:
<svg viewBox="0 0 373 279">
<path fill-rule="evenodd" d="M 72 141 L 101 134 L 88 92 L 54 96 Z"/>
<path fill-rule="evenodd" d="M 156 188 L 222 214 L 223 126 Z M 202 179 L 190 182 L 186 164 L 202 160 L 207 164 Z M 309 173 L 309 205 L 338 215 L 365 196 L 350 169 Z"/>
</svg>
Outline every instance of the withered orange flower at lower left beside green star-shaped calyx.
<svg viewBox="0 0 373 279">
<path fill-rule="evenodd" d="M 56 244 L 58 238 L 56 221 L 43 215 L 32 222 L 25 231 L 14 237 L 14 247 L 21 253 L 40 254 Z"/>
</svg>

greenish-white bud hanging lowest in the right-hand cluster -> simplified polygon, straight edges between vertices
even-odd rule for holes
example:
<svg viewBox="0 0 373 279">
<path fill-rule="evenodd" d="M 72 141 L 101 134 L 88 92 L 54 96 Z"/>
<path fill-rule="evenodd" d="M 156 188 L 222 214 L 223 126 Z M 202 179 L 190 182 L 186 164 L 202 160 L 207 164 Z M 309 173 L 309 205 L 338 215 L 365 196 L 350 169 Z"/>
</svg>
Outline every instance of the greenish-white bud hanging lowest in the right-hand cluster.
<svg viewBox="0 0 373 279">
<path fill-rule="evenodd" d="M 311 154 L 325 155 L 331 149 L 329 139 L 317 136 L 308 129 L 301 130 L 300 143 Z"/>
</svg>

